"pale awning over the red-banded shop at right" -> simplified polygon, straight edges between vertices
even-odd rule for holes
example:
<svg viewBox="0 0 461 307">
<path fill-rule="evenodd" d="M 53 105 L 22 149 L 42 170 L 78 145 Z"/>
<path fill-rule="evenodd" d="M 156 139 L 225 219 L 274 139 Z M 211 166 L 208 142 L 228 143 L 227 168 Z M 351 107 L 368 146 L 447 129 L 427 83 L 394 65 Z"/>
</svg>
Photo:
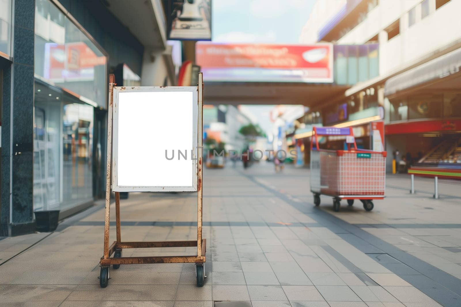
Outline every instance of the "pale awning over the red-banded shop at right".
<svg viewBox="0 0 461 307">
<path fill-rule="evenodd" d="M 461 48 L 388 79 L 384 87 L 384 96 L 390 96 L 429 81 L 438 81 L 459 73 L 460 68 Z"/>
</svg>

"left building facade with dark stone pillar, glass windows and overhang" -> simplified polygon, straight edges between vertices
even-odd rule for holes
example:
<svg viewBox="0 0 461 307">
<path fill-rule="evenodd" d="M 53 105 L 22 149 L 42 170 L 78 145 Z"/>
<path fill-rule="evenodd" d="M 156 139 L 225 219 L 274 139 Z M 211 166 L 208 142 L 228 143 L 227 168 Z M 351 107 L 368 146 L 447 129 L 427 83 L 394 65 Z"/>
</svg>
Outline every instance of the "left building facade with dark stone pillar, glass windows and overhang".
<svg viewBox="0 0 461 307">
<path fill-rule="evenodd" d="M 108 74 L 175 84 L 163 16 L 160 0 L 0 0 L 0 236 L 104 196 Z"/>
</svg>

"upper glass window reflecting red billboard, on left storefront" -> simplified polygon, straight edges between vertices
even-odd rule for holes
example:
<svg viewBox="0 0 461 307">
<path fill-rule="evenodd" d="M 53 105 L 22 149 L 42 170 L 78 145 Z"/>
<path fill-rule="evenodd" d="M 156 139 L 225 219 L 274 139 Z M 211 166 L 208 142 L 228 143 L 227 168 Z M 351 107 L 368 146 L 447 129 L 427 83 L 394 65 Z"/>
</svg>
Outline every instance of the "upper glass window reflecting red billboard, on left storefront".
<svg viewBox="0 0 461 307">
<path fill-rule="evenodd" d="M 49 0 L 35 8 L 35 74 L 106 108 L 106 56 Z"/>
</svg>

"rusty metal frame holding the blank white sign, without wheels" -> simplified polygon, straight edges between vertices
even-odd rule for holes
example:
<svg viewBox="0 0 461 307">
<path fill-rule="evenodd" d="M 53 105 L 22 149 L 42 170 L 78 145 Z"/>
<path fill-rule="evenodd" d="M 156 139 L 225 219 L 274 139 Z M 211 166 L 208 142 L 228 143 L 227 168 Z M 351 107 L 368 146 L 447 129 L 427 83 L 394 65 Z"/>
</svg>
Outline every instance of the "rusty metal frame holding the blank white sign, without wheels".
<svg viewBox="0 0 461 307">
<path fill-rule="evenodd" d="M 107 164 L 106 164 L 106 211 L 104 222 L 104 254 L 100 259 L 100 266 L 118 264 L 143 264 L 143 263 L 204 263 L 206 253 L 206 239 L 202 239 L 202 116 L 203 116 L 203 76 L 199 73 L 198 91 L 198 127 L 197 127 L 197 240 L 196 241 L 162 241 L 162 242 L 122 242 L 120 234 L 120 195 L 115 192 L 115 217 L 117 240 L 109 246 L 110 222 L 110 195 L 112 174 L 112 110 L 114 75 L 109 75 L 109 104 L 107 114 Z M 197 247 L 197 255 L 184 256 L 144 256 L 144 257 L 119 257 L 110 258 L 116 250 L 138 248 L 162 247 Z"/>
</svg>

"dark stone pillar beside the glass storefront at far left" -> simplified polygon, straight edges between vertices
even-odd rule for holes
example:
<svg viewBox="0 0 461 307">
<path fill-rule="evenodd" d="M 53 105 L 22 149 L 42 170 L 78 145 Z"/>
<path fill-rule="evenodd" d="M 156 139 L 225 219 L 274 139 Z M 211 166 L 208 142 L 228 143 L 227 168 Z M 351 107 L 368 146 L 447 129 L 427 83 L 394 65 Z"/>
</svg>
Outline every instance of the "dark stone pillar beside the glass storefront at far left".
<svg viewBox="0 0 461 307">
<path fill-rule="evenodd" d="M 35 231 L 33 223 L 35 0 L 15 0 L 13 20 L 10 233 L 16 236 Z"/>
</svg>

